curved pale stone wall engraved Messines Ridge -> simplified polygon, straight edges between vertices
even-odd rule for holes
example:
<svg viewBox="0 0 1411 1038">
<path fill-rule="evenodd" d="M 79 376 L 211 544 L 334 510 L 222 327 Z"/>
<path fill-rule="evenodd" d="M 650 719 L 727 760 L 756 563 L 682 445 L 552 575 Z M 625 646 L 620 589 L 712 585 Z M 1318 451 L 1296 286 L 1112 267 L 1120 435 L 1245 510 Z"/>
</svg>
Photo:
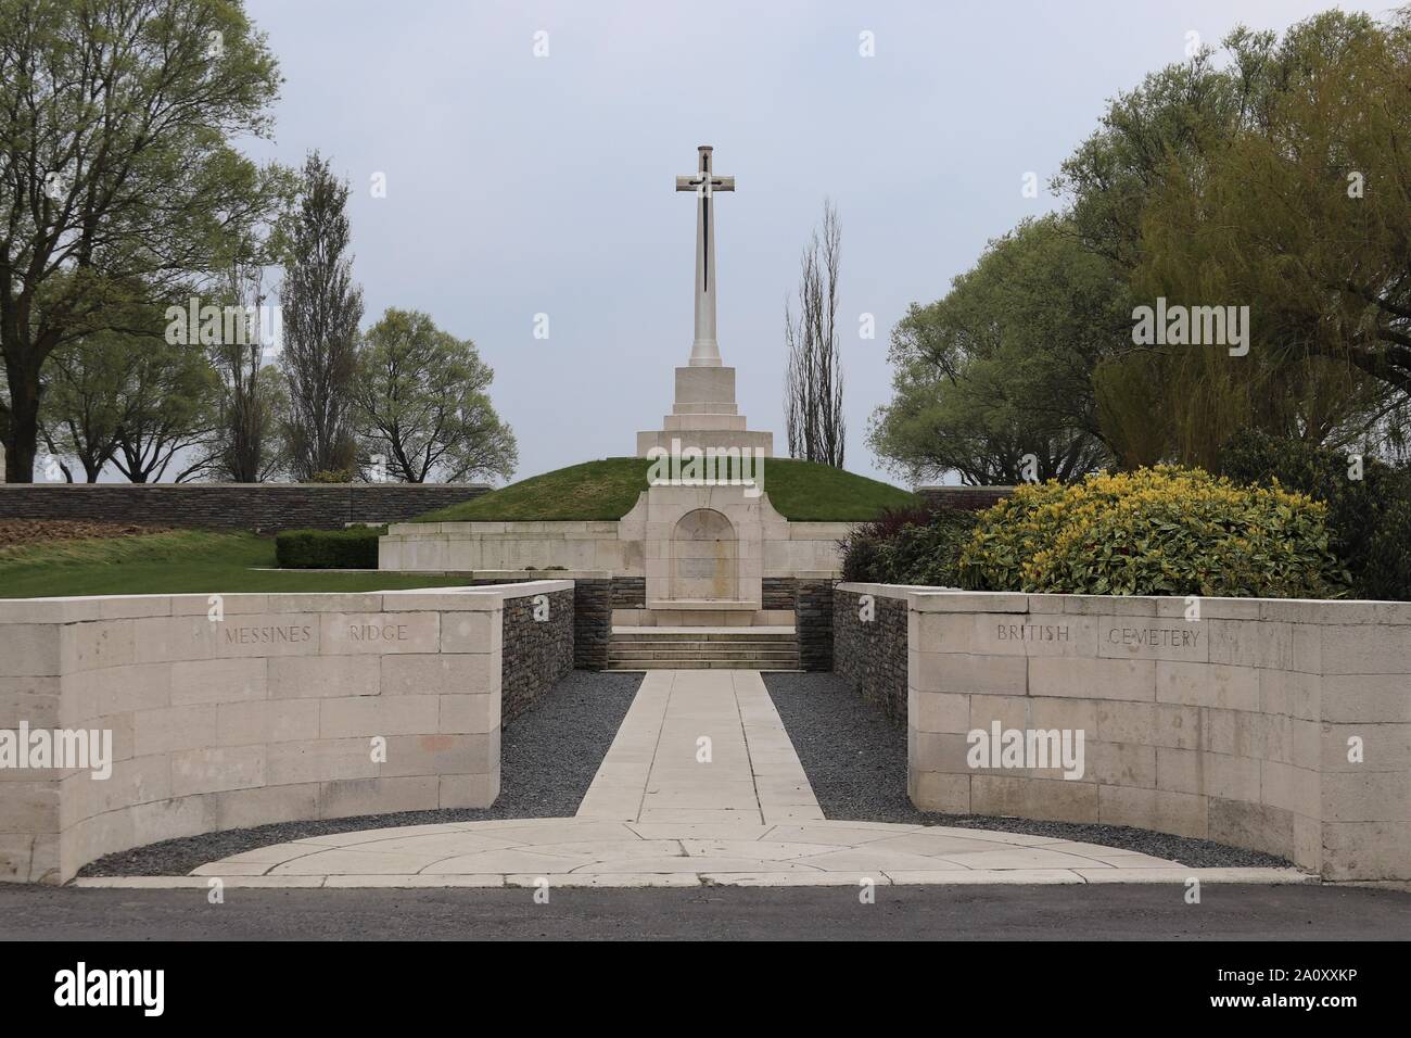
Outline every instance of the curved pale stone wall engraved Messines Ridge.
<svg viewBox="0 0 1411 1038">
<path fill-rule="evenodd" d="M 571 610 L 571 590 L 226 595 L 219 616 L 196 595 L 0 602 L 0 737 L 111 740 L 106 778 L 0 758 L 0 880 L 219 829 L 490 806 L 507 602 Z"/>
</svg>

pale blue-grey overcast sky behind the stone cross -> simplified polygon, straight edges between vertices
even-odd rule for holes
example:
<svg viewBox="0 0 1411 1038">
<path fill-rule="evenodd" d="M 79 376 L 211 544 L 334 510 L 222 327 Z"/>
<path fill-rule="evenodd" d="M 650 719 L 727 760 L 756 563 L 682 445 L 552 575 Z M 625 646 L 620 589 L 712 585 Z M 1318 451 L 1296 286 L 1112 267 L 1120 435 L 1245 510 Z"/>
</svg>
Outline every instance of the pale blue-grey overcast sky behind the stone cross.
<svg viewBox="0 0 1411 1038">
<path fill-rule="evenodd" d="M 286 79 L 277 138 L 251 151 L 298 165 L 316 147 L 353 182 L 364 326 L 416 308 L 474 339 L 516 477 L 631 455 L 660 428 L 691 346 L 694 199 L 673 178 L 697 144 L 737 178 L 717 208 L 721 353 L 783 453 L 783 301 L 831 196 L 847 467 L 882 476 L 865 434 L 890 393 L 890 329 L 988 239 L 1055 206 L 1024 198 L 1023 175 L 1046 182 L 1106 99 L 1184 58 L 1188 32 L 1283 30 L 1331 6 L 247 0 Z"/>
</svg>

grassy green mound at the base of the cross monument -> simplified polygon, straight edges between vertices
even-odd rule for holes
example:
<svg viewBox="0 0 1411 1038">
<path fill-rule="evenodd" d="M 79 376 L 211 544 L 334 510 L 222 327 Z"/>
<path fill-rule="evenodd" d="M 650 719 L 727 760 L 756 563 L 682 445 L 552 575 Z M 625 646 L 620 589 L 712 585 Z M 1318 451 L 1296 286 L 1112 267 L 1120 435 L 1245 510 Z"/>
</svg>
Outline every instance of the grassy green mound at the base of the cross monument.
<svg viewBox="0 0 1411 1038">
<path fill-rule="evenodd" d="M 419 515 L 416 523 L 507 520 L 618 520 L 646 490 L 646 458 L 607 458 L 532 476 L 471 501 Z M 765 493 L 779 513 L 796 523 L 875 518 L 883 508 L 914 503 L 889 483 L 842 469 L 789 458 L 765 462 Z"/>
</svg>

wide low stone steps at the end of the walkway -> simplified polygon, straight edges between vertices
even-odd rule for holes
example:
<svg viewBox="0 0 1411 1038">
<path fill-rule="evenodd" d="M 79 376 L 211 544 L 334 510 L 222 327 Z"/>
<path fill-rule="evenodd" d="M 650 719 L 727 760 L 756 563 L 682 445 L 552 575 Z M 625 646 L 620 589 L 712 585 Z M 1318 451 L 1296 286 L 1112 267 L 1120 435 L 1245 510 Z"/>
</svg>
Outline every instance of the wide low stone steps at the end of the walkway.
<svg viewBox="0 0 1411 1038">
<path fill-rule="evenodd" d="M 793 627 L 614 627 L 610 671 L 797 671 Z"/>
</svg>

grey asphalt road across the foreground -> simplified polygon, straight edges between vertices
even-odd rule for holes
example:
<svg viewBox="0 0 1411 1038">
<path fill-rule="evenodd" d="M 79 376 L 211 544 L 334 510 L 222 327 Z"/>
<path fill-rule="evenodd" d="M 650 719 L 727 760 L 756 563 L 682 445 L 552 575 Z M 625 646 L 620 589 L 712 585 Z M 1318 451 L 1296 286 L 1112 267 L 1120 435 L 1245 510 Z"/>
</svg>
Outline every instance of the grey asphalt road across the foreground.
<svg viewBox="0 0 1411 1038">
<path fill-rule="evenodd" d="M 78 890 L 0 884 L 0 939 L 1405 941 L 1411 894 L 1360 887 Z"/>
</svg>

